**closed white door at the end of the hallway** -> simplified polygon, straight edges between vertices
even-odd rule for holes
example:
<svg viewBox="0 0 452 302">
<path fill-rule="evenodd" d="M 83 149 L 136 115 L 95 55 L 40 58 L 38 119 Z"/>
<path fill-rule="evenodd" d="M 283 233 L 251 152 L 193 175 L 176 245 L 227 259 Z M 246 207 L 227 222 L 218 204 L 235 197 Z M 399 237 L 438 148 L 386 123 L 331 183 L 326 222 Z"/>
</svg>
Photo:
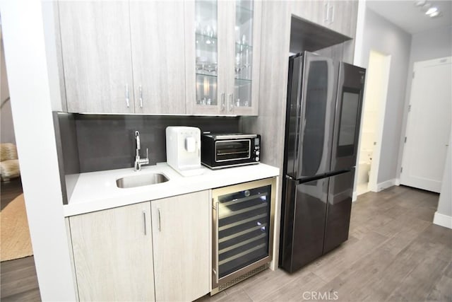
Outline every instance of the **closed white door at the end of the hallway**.
<svg viewBox="0 0 452 302">
<path fill-rule="evenodd" d="M 452 57 L 415 62 L 400 183 L 439 192 L 451 132 Z"/>
</svg>

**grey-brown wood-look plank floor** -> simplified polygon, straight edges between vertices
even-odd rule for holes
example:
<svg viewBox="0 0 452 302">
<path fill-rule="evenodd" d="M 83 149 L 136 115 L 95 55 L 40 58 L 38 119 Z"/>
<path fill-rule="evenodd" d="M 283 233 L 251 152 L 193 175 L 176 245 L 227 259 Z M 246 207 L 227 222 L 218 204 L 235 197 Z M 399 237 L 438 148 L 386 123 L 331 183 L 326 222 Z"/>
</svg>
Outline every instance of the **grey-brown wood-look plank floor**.
<svg viewBox="0 0 452 302">
<path fill-rule="evenodd" d="M 452 230 L 432 224 L 438 196 L 403 186 L 362 194 L 339 248 L 198 301 L 452 301 Z M 34 271 L 32 257 L 1 262 L 1 301 L 40 301 Z"/>
</svg>

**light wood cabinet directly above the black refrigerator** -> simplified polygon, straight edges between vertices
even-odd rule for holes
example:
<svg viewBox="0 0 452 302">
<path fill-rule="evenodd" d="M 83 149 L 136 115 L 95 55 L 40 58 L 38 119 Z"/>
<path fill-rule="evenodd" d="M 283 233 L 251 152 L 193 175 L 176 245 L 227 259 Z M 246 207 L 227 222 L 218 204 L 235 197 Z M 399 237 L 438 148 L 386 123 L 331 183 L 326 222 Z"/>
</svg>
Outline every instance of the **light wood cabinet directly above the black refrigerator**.
<svg viewBox="0 0 452 302">
<path fill-rule="evenodd" d="M 330 28 L 347 37 L 355 37 L 358 1 L 291 1 L 292 14 Z"/>
</svg>

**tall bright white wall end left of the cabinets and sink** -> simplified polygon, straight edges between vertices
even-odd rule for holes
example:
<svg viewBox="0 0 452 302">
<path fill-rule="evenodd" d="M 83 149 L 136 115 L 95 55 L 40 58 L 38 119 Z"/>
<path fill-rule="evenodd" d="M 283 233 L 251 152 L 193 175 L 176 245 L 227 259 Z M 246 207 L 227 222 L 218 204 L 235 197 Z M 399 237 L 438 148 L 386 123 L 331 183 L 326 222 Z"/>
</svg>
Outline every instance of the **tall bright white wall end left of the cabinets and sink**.
<svg viewBox="0 0 452 302">
<path fill-rule="evenodd" d="M 0 0 L 25 207 L 42 301 L 75 301 L 41 1 Z"/>
</svg>

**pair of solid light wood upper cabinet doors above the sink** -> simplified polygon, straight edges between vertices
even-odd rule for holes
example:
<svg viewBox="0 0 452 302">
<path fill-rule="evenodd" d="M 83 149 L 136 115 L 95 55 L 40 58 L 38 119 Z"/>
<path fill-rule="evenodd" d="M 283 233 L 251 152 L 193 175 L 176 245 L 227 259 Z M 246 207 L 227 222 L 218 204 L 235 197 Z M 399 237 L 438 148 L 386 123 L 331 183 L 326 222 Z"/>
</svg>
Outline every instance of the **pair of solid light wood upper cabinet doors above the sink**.
<svg viewBox="0 0 452 302">
<path fill-rule="evenodd" d="M 182 2 L 58 6 L 69 112 L 186 112 Z"/>
</svg>

